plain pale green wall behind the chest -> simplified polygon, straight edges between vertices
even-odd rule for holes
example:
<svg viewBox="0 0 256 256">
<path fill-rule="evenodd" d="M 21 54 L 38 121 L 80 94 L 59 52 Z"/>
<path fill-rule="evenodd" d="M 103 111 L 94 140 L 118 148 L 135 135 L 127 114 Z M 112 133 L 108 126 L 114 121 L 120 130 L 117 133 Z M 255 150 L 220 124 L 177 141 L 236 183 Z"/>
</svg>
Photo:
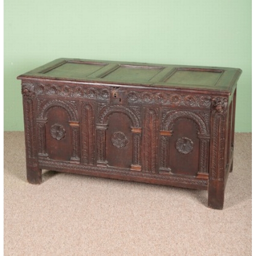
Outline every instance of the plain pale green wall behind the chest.
<svg viewBox="0 0 256 256">
<path fill-rule="evenodd" d="M 6 0 L 5 131 L 24 130 L 17 75 L 59 57 L 240 68 L 236 132 L 251 132 L 249 0 Z"/>
</svg>

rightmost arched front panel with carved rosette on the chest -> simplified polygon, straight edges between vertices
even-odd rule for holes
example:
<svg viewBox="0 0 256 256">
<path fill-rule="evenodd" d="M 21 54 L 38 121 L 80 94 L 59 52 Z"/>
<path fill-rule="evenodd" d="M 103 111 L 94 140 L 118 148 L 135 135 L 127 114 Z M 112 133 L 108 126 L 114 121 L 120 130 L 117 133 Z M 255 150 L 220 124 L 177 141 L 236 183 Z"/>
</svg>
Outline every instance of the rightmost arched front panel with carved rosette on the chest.
<svg viewBox="0 0 256 256">
<path fill-rule="evenodd" d="M 209 172 L 209 112 L 164 110 L 161 129 L 160 172 Z"/>
</svg>

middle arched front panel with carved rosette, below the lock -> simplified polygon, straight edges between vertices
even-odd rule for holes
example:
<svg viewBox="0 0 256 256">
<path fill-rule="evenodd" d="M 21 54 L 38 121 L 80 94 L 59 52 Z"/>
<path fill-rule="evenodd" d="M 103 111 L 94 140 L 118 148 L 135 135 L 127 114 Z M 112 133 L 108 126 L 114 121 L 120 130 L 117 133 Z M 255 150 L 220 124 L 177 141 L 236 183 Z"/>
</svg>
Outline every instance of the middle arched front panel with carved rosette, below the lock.
<svg viewBox="0 0 256 256">
<path fill-rule="evenodd" d="M 141 170 L 141 127 L 138 109 L 99 104 L 97 165 Z"/>
</svg>

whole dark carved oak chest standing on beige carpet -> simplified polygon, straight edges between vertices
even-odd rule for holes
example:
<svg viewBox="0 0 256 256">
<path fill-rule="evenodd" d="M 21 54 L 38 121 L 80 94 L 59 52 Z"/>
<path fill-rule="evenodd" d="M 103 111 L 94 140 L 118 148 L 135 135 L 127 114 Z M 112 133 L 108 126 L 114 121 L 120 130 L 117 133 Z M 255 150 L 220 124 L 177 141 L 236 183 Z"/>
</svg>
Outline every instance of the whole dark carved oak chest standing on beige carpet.
<svg viewBox="0 0 256 256">
<path fill-rule="evenodd" d="M 222 209 L 240 75 L 66 58 L 20 75 L 27 179 L 51 169 L 205 189 Z"/>
</svg>

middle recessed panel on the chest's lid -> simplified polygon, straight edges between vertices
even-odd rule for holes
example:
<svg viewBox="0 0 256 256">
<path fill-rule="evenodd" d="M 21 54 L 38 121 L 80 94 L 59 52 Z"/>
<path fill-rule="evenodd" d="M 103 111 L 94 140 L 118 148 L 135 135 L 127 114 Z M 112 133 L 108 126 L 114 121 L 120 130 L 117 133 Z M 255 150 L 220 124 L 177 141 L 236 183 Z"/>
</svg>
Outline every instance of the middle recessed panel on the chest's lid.
<svg viewBox="0 0 256 256">
<path fill-rule="evenodd" d="M 148 81 L 159 73 L 162 67 L 121 65 L 101 78 L 114 81 Z"/>
</svg>

